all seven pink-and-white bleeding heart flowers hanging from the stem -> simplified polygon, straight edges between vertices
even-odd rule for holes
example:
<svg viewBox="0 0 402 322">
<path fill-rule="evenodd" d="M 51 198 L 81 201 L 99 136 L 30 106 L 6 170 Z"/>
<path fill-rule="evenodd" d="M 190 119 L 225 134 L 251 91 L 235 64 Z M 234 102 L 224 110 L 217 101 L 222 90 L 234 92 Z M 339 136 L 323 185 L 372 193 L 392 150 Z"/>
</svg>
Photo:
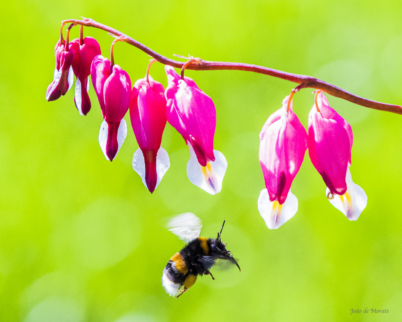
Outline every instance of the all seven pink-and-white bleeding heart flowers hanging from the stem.
<svg viewBox="0 0 402 322">
<path fill-rule="evenodd" d="M 124 116 L 129 111 L 131 126 L 139 148 L 133 154 L 133 169 L 152 193 L 170 166 L 168 153 L 161 147 L 166 122 L 183 136 L 189 147 L 189 180 L 209 194 L 222 189 L 228 163 L 213 149 L 216 127 L 215 105 L 211 97 L 189 78 L 181 79 L 173 67 L 165 66 L 168 85 L 149 76 L 131 88 L 127 72 L 100 55 L 98 42 L 82 36 L 55 46 L 53 81 L 46 91 L 47 101 L 58 99 L 77 78 L 74 102 L 81 115 L 91 103 L 89 75 L 95 89 L 103 122 L 99 144 L 107 160 L 113 161 L 127 136 Z M 116 39 L 115 41 L 117 41 Z M 114 44 L 114 42 L 113 42 Z M 258 198 L 258 210 L 267 226 L 277 229 L 295 215 L 297 198 L 291 184 L 308 149 L 310 159 L 322 176 L 331 204 L 350 220 L 357 220 L 367 204 L 364 190 L 353 183 L 349 166 L 353 134 L 351 126 L 330 107 L 322 92 L 316 93 L 308 116 L 308 132 L 293 112 L 289 97 L 265 122 L 260 132 L 259 159 L 265 186 Z"/>
</svg>

